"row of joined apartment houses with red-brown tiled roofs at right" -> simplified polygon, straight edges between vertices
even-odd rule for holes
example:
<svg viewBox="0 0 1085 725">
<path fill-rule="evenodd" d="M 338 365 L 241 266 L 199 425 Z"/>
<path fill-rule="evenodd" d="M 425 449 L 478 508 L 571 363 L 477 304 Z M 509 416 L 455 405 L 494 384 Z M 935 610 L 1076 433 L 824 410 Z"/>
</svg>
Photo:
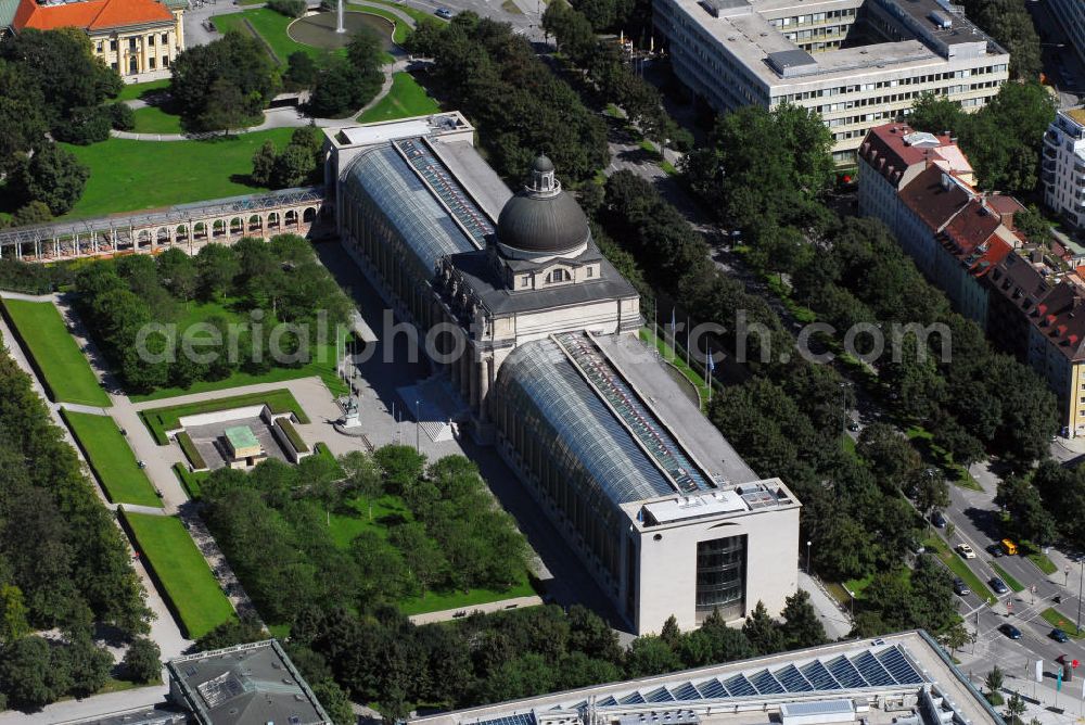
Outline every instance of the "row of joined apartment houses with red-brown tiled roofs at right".
<svg viewBox="0 0 1085 725">
<path fill-rule="evenodd" d="M 957 311 L 1044 377 L 1064 435 L 1085 433 L 1085 282 L 1072 253 L 1030 243 L 1013 226 L 1024 207 L 979 192 L 946 136 L 889 124 L 858 158 L 859 213 L 884 221 Z"/>
</svg>

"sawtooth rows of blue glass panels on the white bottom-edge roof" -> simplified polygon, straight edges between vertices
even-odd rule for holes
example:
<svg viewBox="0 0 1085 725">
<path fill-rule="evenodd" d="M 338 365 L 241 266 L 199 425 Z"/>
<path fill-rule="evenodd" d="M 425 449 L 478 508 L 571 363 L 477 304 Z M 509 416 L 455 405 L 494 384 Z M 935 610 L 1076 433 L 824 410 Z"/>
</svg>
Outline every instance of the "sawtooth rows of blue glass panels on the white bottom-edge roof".
<svg viewBox="0 0 1085 725">
<path fill-rule="evenodd" d="M 685 682 L 647 690 L 633 690 L 625 695 L 607 696 L 596 701 L 597 708 L 621 704 L 650 704 L 715 700 L 720 698 L 749 698 L 764 695 L 791 695 L 815 691 L 848 690 L 860 687 L 892 687 L 921 685 L 927 682 L 908 662 L 899 646 L 880 651 L 867 649 L 851 658 L 840 654 L 828 661 L 814 660 L 802 666 L 789 663 L 775 670 L 739 673 L 720 679 Z M 566 707 L 576 710 L 584 707 Z M 476 725 L 535 725 L 532 714 L 487 720 Z"/>
</svg>

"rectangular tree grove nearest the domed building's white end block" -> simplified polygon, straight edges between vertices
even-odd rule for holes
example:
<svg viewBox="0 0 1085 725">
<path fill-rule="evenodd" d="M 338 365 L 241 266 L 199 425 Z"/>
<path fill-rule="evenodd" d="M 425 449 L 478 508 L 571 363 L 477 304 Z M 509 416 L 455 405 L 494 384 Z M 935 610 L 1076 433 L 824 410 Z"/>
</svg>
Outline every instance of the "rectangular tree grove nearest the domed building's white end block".
<svg viewBox="0 0 1085 725">
<path fill-rule="evenodd" d="M 406 504 L 382 520 L 387 536 L 366 530 L 336 547 L 330 514 L 357 516 L 361 495 L 372 517 L 372 501 L 385 493 Z M 527 569 L 523 536 L 462 457 L 426 467 L 412 448 L 387 446 L 339 466 L 319 456 L 296 468 L 266 461 L 247 475 L 215 471 L 202 498 L 216 540 L 271 622 L 315 606 L 370 611 L 429 590 L 506 589 Z"/>
</svg>

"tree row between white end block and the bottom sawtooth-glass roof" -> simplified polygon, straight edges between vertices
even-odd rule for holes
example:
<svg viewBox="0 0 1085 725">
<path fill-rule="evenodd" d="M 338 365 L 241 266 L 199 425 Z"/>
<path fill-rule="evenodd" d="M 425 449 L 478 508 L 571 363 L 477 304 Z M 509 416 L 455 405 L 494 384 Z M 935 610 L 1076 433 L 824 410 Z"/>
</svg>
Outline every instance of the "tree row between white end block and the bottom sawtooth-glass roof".
<svg viewBox="0 0 1085 725">
<path fill-rule="evenodd" d="M 303 673 L 334 673 L 355 701 L 376 702 L 396 717 L 418 702 L 471 707 L 826 641 L 804 592 L 788 599 L 781 615 L 782 622 L 774 620 L 758 603 L 741 629 L 713 614 L 685 633 L 672 618 L 659 636 L 639 637 L 623 650 L 614 631 L 580 606 L 425 626 L 387 609 L 366 618 L 310 609 L 294 622 L 290 652 Z"/>
</svg>

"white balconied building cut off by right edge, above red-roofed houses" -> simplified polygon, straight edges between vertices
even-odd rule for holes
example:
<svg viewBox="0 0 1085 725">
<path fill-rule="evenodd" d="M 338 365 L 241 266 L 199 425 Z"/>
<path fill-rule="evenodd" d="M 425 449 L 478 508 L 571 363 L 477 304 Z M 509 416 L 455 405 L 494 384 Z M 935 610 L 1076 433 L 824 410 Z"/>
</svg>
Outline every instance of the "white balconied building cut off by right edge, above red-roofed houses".
<svg viewBox="0 0 1085 725">
<path fill-rule="evenodd" d="M 1085 109 L 1059 111 L 1044 133 L 1044 202 L 1076 228 L 1085 226 Z"/>
</svg>

